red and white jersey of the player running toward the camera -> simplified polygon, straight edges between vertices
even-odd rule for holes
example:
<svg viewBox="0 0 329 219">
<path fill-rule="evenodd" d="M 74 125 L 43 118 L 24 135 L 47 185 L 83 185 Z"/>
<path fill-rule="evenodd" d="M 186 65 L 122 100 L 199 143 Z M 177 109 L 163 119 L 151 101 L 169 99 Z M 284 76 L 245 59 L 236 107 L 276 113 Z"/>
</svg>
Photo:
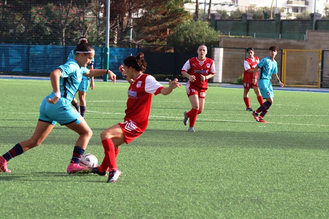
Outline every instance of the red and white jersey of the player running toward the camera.
<svg viewBox="0 0 329 219">
<path fill-rule="evenodd" d="M 201 81 L 201 75 L 215 74 L 215 64 L 211 58 L 206 57 L 204 61 L 200 61 L 197 57 L 190 58 L 181 71 L 188 72 L 190 75 L 195 76 L 195 81 L 190 82 L 195 87 L 202 89 L 208 88 L 208 79 L 204 82 Z"/>
</svg>

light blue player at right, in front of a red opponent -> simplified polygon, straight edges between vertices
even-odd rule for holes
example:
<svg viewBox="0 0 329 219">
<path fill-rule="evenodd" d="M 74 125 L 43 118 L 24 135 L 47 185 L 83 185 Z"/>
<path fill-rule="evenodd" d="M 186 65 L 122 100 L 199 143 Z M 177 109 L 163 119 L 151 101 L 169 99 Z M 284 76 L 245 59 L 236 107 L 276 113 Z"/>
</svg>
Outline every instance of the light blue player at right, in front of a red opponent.
<svg viewBox="0 0 329 219">
<path fill-rule="evenodd" d="M 254 68 L 253 74 L 256 75 L 259 70 L 258 76 L 258 87 L 261 91 L 263 98 L 266 98 L 266 102 L 260 106 L 256 111 L 252 112 L 253 117 L 257 122 L 267 123 L 264 120 L 266 113 L 268 112 L 270 106 L 273 104 L 273 87 L 271 83 L 272 74 L 277 76 L 277 82 L 281 87 L 284 84 L 280 81 L 278 76 L 278 63 L 274 60 L 278 53 L 279 48 L 277 46 L 271 46 L 269 48 L 269 56 L 263 58 L 260 63 Z M 257 84 L 257 78 L 254 76 L 252 79 L 252 84 Z M 259 115 L 260 114 L 260 115 Z"/>
</svg>

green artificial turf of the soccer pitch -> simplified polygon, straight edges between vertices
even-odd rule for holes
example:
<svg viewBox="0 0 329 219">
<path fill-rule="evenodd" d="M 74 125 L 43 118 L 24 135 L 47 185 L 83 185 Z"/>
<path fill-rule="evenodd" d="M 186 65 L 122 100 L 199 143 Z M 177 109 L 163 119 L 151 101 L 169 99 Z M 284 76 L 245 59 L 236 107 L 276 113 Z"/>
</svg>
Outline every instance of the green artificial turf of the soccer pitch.
<svg viewBox="0 0 329 219">
<path fill-rule="evenodd" d="M 96 82 L 87 93 L 86 152 L 99 162 L 100 133 L 123 121 L 128 86 Z M 2 155 L 32 135 L 52 89 L 0 79 L 0 91 Z M 0 173 L 0 218 L 328 218 L 328 95 L 275 90 L 263 124 L 245 111 L 243 89 L 211 86 L 195 133 L 182 123 L 191 108 L 184 86 L 154 96 L 148 129 L 120 147 L 115 184 L 66 173 L 78 134 L 57 125 Z"/>
</svg>

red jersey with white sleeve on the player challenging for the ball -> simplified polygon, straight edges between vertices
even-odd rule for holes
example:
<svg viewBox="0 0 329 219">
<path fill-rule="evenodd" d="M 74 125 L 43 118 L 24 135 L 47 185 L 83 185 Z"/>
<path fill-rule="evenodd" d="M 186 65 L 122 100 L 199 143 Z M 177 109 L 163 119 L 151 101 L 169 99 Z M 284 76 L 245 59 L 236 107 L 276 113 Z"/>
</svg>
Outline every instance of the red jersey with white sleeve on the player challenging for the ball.
<svg viewBox="0 0 329 219">
<path fill-rule="evenodd" d="M 124 120 L 136 123 L 144 131 L 149 124 L 152 94 L 159 94 L 162 88 L 163 86 L 152 75 L 139 75 L 128 89 Z"/>
</svg>

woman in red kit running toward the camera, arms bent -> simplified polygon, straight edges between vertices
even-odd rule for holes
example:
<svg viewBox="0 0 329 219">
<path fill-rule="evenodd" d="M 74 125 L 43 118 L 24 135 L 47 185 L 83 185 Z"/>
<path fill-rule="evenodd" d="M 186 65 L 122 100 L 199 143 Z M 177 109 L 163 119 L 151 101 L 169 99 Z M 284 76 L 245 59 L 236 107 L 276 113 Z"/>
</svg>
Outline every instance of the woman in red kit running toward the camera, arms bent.
<svg viewBox="0 0 329 219">
<path fill-rule="evenodd" d="M 207 47 L 200 45 L 197 54 L 197 57 L 190 58 L 181 69 L 181 74 L 188 78 L 186 93 L 192 105 L 189 112 L 184 112 L 184 125 L 187 125 L 190 118 L 189 132 L 195 132 L 196 116 L 202 113 L 205 107 L 208 79 L 215 75 L 214 61 L 206 57 Z"/>
</svg>

